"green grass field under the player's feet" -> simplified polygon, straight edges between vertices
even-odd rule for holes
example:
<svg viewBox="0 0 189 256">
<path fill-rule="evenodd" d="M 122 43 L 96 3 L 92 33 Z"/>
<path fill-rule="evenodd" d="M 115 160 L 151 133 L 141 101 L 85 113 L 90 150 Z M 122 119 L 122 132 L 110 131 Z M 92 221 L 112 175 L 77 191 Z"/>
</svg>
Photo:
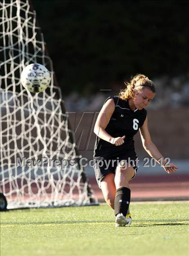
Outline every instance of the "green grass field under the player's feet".
<svg viewBox="0 0 189 256">
<path fill-rule="evenodd" d="M 1 256 L 188 256 L 188 203 L 131 203 L 114 227 L 106 205 L 1 212 Z"/>
</svg>

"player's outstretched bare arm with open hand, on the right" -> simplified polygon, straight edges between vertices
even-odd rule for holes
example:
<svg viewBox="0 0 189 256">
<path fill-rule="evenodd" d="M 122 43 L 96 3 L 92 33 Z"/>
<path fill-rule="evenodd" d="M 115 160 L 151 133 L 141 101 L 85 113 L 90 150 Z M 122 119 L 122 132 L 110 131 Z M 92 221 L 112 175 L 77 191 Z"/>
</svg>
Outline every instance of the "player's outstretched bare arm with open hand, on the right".
<svg viewBox="0 0 189 256">
<path fill-rule="evenodd" d="M 179 168 L 174 165 L 170 164 L 169 166 L 166 166 L 166 160 L 162 156 L 162 154 L 158 151 L 157 146 L 152 142 L 150 133 L 148 130 L 148 118 L 146 117 L 144 124 L 139 128 L 140 136 L 142 140 L 143 147 L 145 151 L 151 156 L 156 159 L 156 161 L 160 164 L 162 164 L 162 167 L 165 169 L 165 171 L 170 174 L 176 172 Z M 162 161 L 161 161 L 162 159 Z"/>
</svg>

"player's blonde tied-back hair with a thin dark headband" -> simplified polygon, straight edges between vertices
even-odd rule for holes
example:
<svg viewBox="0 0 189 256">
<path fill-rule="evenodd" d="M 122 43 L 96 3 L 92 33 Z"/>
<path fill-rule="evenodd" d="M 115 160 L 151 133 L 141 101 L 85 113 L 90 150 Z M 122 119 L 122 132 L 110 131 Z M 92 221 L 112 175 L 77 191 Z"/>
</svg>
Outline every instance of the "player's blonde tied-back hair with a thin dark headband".
<svg viewBox="0 0 189 256">
<path fill-rule="evenodd" d="M 121 90 L 119 97 L 122 100 L 127 100 L 134 97 L 134 89 L 137 91 L 142 91 L 144 87 L 148 87 L 152 92 L 156 92 L 155 83 L 150 80 L 148 77 L 138 74 L 135 77 L 131 78 L 130 82 L 124 82 L 126 88 Z"/>
</svg>

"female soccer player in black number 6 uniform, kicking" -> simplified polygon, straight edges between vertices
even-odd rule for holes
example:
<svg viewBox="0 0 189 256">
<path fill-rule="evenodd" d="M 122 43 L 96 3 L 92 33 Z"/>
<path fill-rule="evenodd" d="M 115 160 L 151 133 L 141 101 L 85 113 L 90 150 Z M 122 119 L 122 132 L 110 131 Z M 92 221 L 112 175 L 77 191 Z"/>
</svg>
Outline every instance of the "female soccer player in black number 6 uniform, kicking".
<svg viewBox="0 0 189 256">
<path fill-rule="evenodd" d="M 129 214 L 129 181 L 135 177 L 138 158 L 133 136 L 140 131 L 144 149 L 167 173 L 178 170 L 166 161 L 153 144 L 148 131 L 147 111 L 144 109 L 155 96 L 155 84 L 139 74 L 125 83 L 119 96 L 109 97 L 96 120 L 94 133 L 94 171 L 105 201 L 115 210 L 116 227 L 131 224 Z"/>
</svg>

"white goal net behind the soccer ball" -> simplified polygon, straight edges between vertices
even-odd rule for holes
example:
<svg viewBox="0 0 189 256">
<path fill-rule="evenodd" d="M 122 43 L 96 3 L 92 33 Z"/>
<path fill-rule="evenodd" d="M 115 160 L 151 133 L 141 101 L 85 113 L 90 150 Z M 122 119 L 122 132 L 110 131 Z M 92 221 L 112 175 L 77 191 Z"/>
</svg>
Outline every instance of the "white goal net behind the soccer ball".
<svg viewBox="0 0 189 256">
<path fill-rule="evenodd" d="M 95 204 L 36 13 L 20 0 L 1 1 L 0 9 L 0 192 L 9 209 Z M 51 73 L 44 92 L 20 82 L 31 63 Z"/>
</svg>

